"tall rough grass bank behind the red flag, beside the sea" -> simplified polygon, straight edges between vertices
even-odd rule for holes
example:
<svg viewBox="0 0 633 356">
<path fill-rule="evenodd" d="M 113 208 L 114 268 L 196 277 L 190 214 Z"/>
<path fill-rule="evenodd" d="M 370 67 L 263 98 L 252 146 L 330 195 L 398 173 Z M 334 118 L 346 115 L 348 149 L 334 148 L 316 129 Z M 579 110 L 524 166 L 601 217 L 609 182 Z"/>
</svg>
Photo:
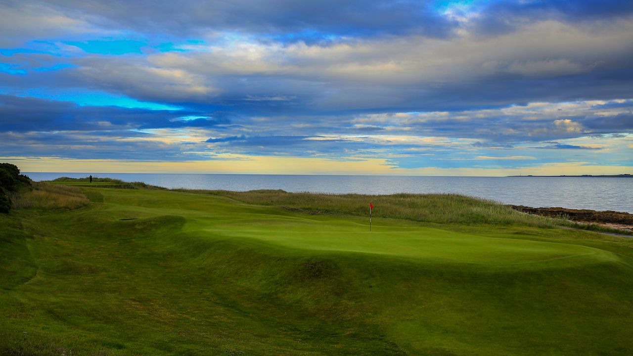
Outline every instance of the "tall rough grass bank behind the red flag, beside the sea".
<svg viewBox="0 0 633 356">
<path fill-rule="evenodd" d="M 184 191 L 184 190 L 182 190 Z M 248 204 L 289 207 L 311 214 L 346 213 L 367 216 L 369 203 L 374 209 L 372 216 L 391 219 L 407 219 L 437 224 L 494 224 L 554 227 L 562 220 L 520 213 L 496 201 L 473 198 L 458 194 L 313 194 L 288 193 L 282 190 L 203 191 L 226 196 Z"/>
</svg>

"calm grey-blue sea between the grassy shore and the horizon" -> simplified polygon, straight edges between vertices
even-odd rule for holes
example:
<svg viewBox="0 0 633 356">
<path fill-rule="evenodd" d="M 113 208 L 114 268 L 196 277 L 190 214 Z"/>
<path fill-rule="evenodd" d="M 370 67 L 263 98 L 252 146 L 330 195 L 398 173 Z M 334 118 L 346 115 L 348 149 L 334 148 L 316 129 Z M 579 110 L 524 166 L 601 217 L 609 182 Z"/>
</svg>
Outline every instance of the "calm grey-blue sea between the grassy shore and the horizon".
<svg viewBox="0 0 633 356">
<path fill-rule="evenodd" d="M 34 181 L 87 173 L 25 173 Z M 458 193 L 528 207 L 617 210 L 633 213 L 633 179 L 580 177 L 411 177 L 385 175 L 257 175 L 99 173 L 166 188 L 283 189 L 315 193 Z"/>
</svg>

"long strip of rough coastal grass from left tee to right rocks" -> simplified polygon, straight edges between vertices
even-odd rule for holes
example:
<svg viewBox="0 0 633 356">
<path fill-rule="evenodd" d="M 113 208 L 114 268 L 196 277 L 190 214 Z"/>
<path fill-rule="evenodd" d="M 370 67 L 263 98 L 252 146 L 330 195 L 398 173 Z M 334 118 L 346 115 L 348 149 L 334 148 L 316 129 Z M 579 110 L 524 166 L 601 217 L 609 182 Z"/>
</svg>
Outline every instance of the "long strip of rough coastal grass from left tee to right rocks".
<svg viewBox="0 0 633 356">
<path fill-rule="evenodd" d="M 153 186 L 144 182 L 125 182 L 112 178 L 93 178 L 90 183 L 87 177 L 60 177 L 51 181 L 75 187 L 120 188 L 170 190 Z M 257 205 L 273 205 L 285 207 L 310 214 L 351 214 L 365 216 L 368 213 L 368 201 L 380 207 L 373 212 L 374 217 L 390 219 L 407 219 L 437 224 L 519 224 L 553 228 L 556 226 L 572 227 L 589 231 L 608 232 L 613 234 L 630 234 L 633 231 L 625 228 L 628 221 L 620 225 L 612 224 L 613 214 L 594 212 L 591 219 L 587 214 L 576 215 L 573 210 L 563 209 L 556 212 L 543 212 L 542 209 L 503 205 L 497 201 L 486 200 L 461 194 L 323 194 L 323 193 L 290 193 L 281 189 L 260 189 L 251 191 L 226 191 L 210 189 L 171 189 L 186 193 L 211 194 L 226 196 L 237 201 Z M 584 210 L 591 212 L 591 210 Z M 618 212 L 615 212 L 618 213 Z M 624 215 L 626 213 L 620 213 Z M 630 215 L 630 214 L 626 214 Z M 608 224 L 612 224 L 611 226 Z"/>
</svg>

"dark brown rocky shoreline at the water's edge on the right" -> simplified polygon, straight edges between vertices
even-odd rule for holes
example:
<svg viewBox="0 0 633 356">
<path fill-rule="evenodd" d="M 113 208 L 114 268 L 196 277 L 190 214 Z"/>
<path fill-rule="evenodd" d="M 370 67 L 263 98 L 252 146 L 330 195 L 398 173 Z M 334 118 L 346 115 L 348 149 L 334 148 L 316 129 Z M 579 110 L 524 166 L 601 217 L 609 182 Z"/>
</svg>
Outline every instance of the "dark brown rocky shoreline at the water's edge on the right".
<svg viewBox="0 0 633 356">
<path fill-rule="evenodd" d="M 633 214 L 625 212 L 614 212 L 613 210 L 598 212 L 589 209 L 567 209 L 560 207 L 532 208 L 524 207 L 523 205 L 508 205 L 508 207 L 523 213 L 567 219 L 582 224 L 599 224 L 615 229 L 633 231 Z"/>
</svg>

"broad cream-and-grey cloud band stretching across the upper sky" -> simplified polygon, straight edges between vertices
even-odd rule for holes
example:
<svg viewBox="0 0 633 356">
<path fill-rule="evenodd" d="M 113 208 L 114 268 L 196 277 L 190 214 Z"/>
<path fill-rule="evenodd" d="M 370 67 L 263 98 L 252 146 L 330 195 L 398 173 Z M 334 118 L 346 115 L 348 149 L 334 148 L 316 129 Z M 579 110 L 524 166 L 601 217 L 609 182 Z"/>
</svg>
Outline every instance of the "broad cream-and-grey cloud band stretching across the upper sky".
<svg viewBox="0 0 633 356">
<path fill-rule="evenodd" d="M 216 31 L 183 52 L 83 53 L 64 58 L 73 67 L 57 73 L 2 79 L 15 87 L 84 87 L 248 115 L 458 111 L 633 98 L 632 31 L 633 22 L 625 20 L 602 27 L 547 20 L 492 37 L 408 33 L 313 44 Z M 34 56 L 22 54 L 11 65 L 28 72 Z"/>
</svg>

